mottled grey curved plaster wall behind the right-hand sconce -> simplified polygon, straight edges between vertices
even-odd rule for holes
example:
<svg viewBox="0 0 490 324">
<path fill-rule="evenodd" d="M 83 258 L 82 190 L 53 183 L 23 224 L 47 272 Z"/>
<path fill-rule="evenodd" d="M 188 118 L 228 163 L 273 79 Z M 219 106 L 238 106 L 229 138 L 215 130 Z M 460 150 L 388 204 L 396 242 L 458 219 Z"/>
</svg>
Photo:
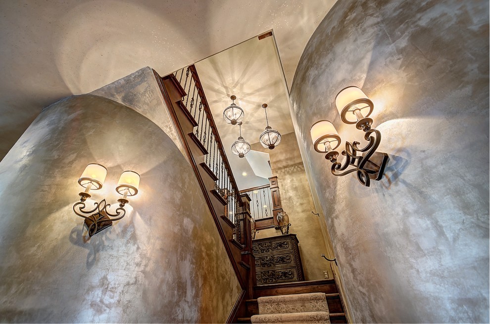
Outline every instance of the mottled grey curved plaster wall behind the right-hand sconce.
<svg viewBox="0 0 490 324">
<path fill-rule="evenodd" d="M 335 108 L 348 85 L 373 99 L 391 159 L 369 188 L 334 177 L 309 135 L 327 119 L 363 142 Z M 488 323 L 489 2 L 338 1 L 291 97 L 353 320 Z"/>
</svg>

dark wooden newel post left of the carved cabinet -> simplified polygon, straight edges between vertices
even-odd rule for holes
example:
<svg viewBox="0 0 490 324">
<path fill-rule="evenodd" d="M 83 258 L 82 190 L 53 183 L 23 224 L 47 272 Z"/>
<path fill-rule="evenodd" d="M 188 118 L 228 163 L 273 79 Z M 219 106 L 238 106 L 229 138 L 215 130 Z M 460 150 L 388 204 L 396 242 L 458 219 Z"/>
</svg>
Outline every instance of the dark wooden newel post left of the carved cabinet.
<svg viewBox="0 0 490 324">
<path fill-rule="evenodd" d="M 252 231 L 250 228 L 250 196 L 248 194 L 241 194 L 243 206 L 240 207 L 240 219 L 241 219 L 241 239 L 244 245 L 242 250 L 242 261 L 250 266 L 247 276 L 247 299 L 253 299 L 253 286 L 256 285 L 257 278 L 255 277 L 255 256 L 253 256 L 252 248 Z"/>
</svg>

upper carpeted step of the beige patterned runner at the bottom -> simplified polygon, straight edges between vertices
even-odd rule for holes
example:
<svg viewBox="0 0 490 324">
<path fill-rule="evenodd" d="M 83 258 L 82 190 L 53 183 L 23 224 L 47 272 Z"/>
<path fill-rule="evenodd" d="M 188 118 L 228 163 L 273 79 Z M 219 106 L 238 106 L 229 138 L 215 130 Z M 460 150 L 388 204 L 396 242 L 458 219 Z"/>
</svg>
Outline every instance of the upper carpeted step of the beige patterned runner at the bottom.
<svg viewBox="0 0 490 324">
<path fill-rule="evenodd" d="M 325 293 L 305 293 L 257 298 L 259 314 L 284 314 L 302 312 L 326 312 Z"/>
</svg>

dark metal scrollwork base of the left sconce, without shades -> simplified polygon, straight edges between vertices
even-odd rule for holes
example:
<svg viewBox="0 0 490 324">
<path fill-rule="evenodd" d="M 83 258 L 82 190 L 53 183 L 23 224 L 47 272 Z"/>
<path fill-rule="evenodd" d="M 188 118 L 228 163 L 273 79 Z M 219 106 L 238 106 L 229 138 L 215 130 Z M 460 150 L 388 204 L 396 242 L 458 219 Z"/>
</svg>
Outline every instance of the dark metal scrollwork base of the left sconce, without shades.
<svg viewBox="0 0 490 324">
<path fill-rule="evenodd" d="M 90 210 L 84 210 L 86 208 L 85 202 L 77 202 L 73 205 L 75 214 L 85 218 L 85 225 L 87 226 L 90 237 L 111 226 L 112 222 L 126 215 L 126 210 L 121 206 L 116 208 L 114 214 L 109 212 L 108 208 L 110 207 L 110 203 L 105 202 L 105 199 L 102 199 L 100 202 L 95 202 L 94 205 L 95 207 Z M 114 218 L 110 218 L 109 216 Z"/>
</svg>

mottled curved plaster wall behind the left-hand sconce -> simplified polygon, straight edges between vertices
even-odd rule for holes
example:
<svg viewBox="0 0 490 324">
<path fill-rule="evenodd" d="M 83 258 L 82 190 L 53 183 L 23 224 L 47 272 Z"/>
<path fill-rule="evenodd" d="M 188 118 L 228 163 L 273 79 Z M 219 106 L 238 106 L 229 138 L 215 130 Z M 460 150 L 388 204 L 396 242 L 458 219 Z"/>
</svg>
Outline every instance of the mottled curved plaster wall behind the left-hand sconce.
<svg viewBox="0 0 490 324">
<path fill-rule="evenodd" d="M 141 183 L 126 216 L 89 239 L 72 206 L 90 162 L 108 168 L 94 201 L 116 203 L 123 170 Z M 185 157 L 106 98 L 39 115 L 0 162 L 0 214 L 0 322 L 220 323 L 241 292 Z"/>
</svg>

